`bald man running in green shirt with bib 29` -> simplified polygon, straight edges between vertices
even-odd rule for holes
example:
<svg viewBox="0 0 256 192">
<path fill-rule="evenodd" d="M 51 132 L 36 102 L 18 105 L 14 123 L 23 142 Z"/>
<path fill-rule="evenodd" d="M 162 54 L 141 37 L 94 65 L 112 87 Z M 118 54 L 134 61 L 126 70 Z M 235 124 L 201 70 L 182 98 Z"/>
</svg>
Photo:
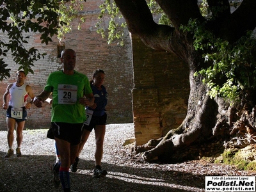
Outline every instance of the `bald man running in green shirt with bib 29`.
<svg viewBox="0 0 256 192">
<path fill-rule="evenodd" d="M 88 77 L 74 70 L 76 52 L 65 49 L 60 60 L 63 70 L 49 75 L 44 91 L 33 102 L 42 108 L 42 102 L 52 93 L 51 126 L 61 157 L 59 175 L 63 191 L 70 191 L 68 170 L 76 158 L 86 120 L 84 106 L 92 105 L 94 97 Z"/>
</svg>

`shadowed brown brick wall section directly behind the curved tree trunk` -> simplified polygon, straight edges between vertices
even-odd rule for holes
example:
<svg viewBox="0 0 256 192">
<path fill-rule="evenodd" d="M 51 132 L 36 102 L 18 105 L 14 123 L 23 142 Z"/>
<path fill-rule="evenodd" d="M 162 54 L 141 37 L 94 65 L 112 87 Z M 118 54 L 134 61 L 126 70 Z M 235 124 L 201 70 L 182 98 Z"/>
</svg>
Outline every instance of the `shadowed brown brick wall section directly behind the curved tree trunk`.
<svg viewBox="0 0 256 192">
<path fill-rule="evenodd" d="M 132 35 L 132 107 L 136 145 L 164 136 L 186 116 L 189 70 L 177 56 L 146 47 Z"/>
</svg>

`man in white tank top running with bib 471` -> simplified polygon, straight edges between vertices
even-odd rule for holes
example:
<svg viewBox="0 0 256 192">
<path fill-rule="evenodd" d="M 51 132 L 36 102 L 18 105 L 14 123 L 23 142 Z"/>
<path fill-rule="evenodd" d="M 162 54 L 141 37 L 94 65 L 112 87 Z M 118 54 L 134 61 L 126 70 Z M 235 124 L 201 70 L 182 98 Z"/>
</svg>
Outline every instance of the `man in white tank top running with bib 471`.
<svg viewBox="0 0 256 192">
<path fill-rule="evenodd" d="M 14 129 L 16 128 L 16 156 L 21 156 L 20 145 L 22 143 L 22 131 L 24 129 L 25 120 L 27 118 L 27 110 L 31 108 L 33 99 L 35 97 L 31 86 L 25 84 L 26 74 L 23 70 L 16 73 L 16 83 L 9 84 L 3 95 L 3 109 L 6 109 L 6 123 L 7 123 L 7 141 L 9 150 L 5 157 L 13 155 L 13 140 Z M 27 102 L 28 97 L 31 102 Z"/>
</svg>

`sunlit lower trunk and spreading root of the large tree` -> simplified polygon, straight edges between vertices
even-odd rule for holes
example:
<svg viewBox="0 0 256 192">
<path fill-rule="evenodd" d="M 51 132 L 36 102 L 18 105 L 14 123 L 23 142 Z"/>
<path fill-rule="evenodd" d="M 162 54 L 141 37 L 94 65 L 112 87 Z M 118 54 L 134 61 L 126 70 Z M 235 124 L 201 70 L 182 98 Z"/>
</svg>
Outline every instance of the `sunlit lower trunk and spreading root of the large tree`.
<svg viewBox="0 0 256 192">
<path fill-rule="evenodd" d="M 182 125 L 176 130 L 169 131 L 156 148 L 143 155 L 145 161 L 158 159 L 159 156 L 165 161 L 170 161 L 173 151 L 186 147 L 191 143 L 201 143 L 213 136 L 213 129 L 218 122 L 218 116 L 227 116 L 228 106 L 222 102 L 220 105 L 216 100 L 206 95 L 206 86 L 190 74 L 190 88 L 188 102 L 188 113 Z M 218 115 L 218 111 L 222 115 Z M 225 118 L 228 120 L 228 118 Z"/>
</svg>

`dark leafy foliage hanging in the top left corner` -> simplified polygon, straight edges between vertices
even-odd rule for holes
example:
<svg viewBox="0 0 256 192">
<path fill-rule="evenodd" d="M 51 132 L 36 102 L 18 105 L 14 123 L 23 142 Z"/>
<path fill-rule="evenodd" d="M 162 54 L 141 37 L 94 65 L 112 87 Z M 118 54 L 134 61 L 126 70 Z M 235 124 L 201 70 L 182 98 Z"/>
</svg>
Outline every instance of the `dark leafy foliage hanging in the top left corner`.
<svg viewBox="0 0 256 192">
<path fill-rule="evenodd" d="M 8 36 L 8 42 L 0 38 L 0 80 L 10 77 L 10 68 L 3 61 L 7 52 L 11 52 L 13 61 L 23 68 L 26 74 L 33 73 L 31 66 L 45 54 L 34 47 L 26 48 L 31 31 L 41 33 L 42 44 L 51 42 L 51 37 L 58 33 L 58 3 L 55 0 L 36 1 L 0 1 L 0 29 Z"/>
</svg>

